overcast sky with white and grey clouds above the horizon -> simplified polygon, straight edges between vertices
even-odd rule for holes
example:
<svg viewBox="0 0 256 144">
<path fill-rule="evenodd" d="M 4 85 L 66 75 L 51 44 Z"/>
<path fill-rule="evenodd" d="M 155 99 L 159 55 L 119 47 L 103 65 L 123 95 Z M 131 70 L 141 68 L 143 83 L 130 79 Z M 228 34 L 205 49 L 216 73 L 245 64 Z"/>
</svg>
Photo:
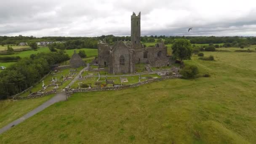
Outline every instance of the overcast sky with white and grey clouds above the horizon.
<svg viewBox="0 0 256 144">
<path fill-rule="evenodd" d="M 133 11 L 141 35 L 256 36 L 256 0 L 0 0 L 0 35 L 130 35 Z"/>
</svg>

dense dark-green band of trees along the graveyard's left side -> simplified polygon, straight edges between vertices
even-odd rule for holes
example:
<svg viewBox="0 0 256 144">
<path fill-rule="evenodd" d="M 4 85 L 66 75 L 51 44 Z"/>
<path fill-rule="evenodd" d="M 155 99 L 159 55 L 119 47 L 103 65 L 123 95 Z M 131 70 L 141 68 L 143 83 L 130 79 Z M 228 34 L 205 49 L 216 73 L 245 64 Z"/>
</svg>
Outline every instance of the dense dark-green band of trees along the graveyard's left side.
<svg viewBox="0 0 256 144">
<path fill-rule="evenodd" d="M 67 61 L 64 51 L 32 54 L 0 72 L 0 99 L 20 93 L 48 74 L 53 64 Z"/>
</svg>

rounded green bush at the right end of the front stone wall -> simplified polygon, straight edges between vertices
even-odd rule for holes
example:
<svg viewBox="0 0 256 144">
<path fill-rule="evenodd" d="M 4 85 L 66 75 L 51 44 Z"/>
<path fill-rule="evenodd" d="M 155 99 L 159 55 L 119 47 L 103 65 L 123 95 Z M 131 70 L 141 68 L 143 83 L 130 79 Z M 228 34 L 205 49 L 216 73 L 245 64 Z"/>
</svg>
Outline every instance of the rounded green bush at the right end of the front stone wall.
<svg viewBox="0 0 256 144">
<path fill-rule="evenodd" d="M 180 71 L 180 74 L 185 79 L 195 78 L 198 73 L 199 73 L 199 70 L 195 65 L 185 66 Z"/>
</svg>

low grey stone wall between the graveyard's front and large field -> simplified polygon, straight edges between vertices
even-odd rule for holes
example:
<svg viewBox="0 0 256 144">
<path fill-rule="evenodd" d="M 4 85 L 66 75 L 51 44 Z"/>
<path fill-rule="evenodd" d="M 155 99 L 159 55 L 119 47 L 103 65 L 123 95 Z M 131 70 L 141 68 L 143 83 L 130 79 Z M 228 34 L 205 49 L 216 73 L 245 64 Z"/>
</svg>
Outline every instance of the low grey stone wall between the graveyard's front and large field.
<svg viewBox="0 0 256 144">
<path fill-rule="evenodd" d="M 120 89 L 125 89 L 125 88 L 134 88 L 138 87 L 140 85 L 144 85 L 147 83 L 153 83 L 156 81 L 161 81 L 161 80 L 167 80 L 167 79 L 173 79 L 173 78 L 178 78 L 180 76 L 167 76 L 167 77 L 161 77 L 161 78 L 155 78 L 151 80 L 145 80 L 143 82 L 139 83 L 134 83 L 131 85 L 122 85 L 122 86 L 117 86 L 117 87 L 103 87 L 103 88 L 80 88 L 80 89 L 73 89 L 72 91 L 68 92 L 69 94 L 72 93 L 77 93 L 77 92 L 89 92 L 89 91 L 110 91 L 110 90 L 120 90 Z"/>
</svg>

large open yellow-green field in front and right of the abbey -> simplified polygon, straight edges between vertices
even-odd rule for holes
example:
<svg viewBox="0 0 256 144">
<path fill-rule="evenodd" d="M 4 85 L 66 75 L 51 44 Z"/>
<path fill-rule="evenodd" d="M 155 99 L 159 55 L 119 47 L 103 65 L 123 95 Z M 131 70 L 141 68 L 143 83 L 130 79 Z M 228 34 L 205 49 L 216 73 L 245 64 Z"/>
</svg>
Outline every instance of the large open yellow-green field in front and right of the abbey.
<svg viewBox="0 0 256 144">
<path fill-rule="evenodd" d="M 203 52 L 215 61 L 185 61 L 211 77 L 75 93 L 3 133 L 0 143 L 254 144 L 256 53 L 225 49 L 231 52 Z"/>
</svg>

